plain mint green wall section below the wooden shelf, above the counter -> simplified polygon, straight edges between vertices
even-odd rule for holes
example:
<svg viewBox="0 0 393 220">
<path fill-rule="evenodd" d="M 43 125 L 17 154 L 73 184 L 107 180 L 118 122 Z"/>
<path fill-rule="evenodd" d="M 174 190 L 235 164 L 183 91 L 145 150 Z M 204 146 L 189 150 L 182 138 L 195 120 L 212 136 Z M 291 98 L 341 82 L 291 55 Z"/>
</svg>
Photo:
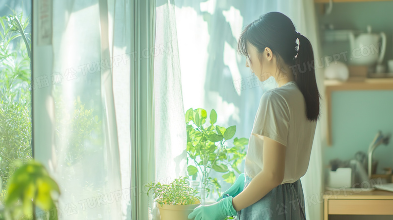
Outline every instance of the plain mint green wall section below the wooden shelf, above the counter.
<svg viewBox="0 0 393 220">
<path fill-rule="evenodd" d="M 324 163 L 354 158 L 368 146 L 380 129 L 393 131 L 393 91 L 336 91 L 332 93 L 332 146 L 324 146 Z M 374 151 L 377 169 L 393 168 L 393 140 Z"/>
</svg>

